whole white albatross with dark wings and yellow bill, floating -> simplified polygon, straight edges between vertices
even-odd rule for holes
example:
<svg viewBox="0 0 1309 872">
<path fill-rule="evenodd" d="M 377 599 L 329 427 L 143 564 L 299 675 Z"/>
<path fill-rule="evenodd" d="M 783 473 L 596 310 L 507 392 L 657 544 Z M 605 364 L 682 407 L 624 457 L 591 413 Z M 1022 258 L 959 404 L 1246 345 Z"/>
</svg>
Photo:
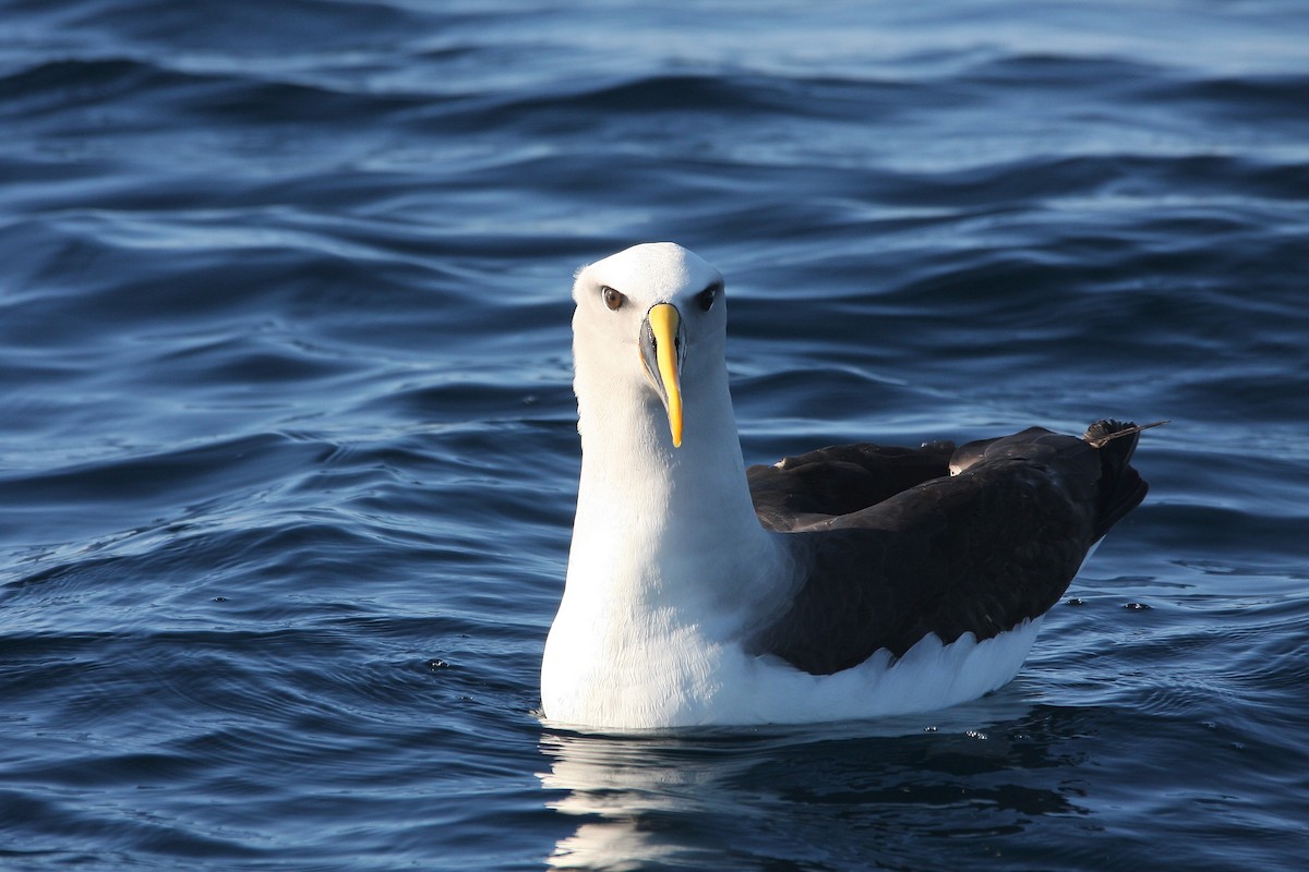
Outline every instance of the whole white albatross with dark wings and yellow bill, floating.
<svg viewBox="0 0 1309 872">
<path fill-rule="evenodd" d="M 580 269 L 573 299 L 583 460 L 548 722 L 814 723 L 980 697 L 1145 497 L 1128 463 L 1144 428 L 1109 420 L 746 469 L 713 267 L 639 244 Z"/>
</svg>

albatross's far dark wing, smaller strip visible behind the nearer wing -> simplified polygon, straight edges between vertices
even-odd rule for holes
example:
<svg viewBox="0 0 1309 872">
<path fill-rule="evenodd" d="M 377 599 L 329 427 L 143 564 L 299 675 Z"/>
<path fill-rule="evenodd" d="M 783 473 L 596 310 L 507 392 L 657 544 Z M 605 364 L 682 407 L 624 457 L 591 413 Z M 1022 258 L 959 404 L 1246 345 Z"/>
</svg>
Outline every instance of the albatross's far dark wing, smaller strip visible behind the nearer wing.
<svg viewBox="0 0 1309 872">
<path fill-rule="evenodd" d="M 759 522 L 768 529 L 791 532 L 948 476 L 953 452 L 953 442 L 919 448 L 838 444 L 771 467 L 750 467 L 745 475 Z"/>
</svg>

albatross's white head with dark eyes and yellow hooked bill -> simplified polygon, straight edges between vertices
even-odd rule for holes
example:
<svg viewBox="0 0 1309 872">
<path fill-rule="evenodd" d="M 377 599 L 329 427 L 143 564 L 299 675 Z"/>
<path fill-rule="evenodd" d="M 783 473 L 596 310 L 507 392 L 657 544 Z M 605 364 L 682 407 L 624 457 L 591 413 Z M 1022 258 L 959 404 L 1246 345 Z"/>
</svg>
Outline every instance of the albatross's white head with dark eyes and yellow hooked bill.
<svg viewBox="0 0 1309 872">
<path fill-rule="evenodd" d="M 573 360 L 583 425 L 589 416 L 626 421 L 634 407 L 657 403 L 665 438 L 679 447 L 683 386 L 726 386 L 723 295 L 719 271 L 672 242 L 632 246 L 579 269 Z"/>
</svg>

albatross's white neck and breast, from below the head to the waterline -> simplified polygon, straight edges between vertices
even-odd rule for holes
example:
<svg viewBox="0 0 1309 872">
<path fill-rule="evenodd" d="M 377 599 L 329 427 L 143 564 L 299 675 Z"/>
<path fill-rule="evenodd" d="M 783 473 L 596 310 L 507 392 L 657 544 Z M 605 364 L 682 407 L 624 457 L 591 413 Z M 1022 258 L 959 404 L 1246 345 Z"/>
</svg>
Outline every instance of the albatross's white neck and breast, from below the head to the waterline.
<svg viewBox="0 0 1309 872">
<path fill-rule="evenodd" d="M 723 658 L 745 656 L 733 639 L 789 578 L 754 514 L 726 373 L 683 394 L 679 448 L 643 383 L 586 382 L 579 367 L 581 484 L 542 659 L 545 711 L 610 726 L 702 720 Z"/>
</svg>

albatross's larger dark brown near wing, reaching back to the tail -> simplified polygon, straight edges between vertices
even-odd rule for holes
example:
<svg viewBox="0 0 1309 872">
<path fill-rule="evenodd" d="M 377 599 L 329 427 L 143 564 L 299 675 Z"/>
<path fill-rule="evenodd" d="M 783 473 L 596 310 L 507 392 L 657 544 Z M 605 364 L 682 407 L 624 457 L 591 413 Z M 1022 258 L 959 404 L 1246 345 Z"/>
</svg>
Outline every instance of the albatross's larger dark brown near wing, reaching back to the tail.
<svg viewBox="0 0 1309 872">
<path fill-rule="evenodd" d="M 1132 433 L 1097 448 L 1031 429 L 969 444 L 958 475 L 793 533 L 804 580 L 755 650 L 827 675 L 880 648 L 901 656 L 929 633 L 980 641 L 1043 614 L 1144 498 L 1128 465 L 1135 443 Z"/>
</svg>

